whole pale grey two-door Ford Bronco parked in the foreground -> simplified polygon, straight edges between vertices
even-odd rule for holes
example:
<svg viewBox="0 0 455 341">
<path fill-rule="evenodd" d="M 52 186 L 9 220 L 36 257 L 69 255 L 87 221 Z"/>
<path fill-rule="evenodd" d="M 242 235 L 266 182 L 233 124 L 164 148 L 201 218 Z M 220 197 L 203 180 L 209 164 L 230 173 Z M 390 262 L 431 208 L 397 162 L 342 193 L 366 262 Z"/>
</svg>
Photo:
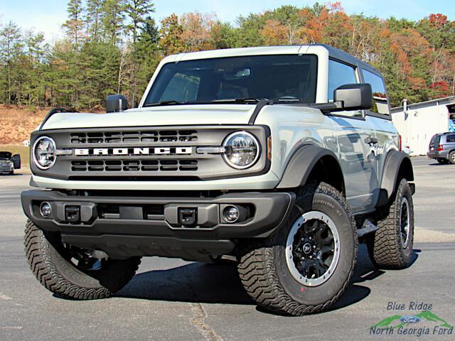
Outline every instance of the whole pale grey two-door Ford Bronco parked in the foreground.
<svg viewBox="0 0 455 341">
<path fill-rule="evenodd" d="M 324 310 L 413 259 L 414 175 L 384 81 L 327 45 L 171 55 L 139 107 L 53 109 L 31 134 L 25 246 L 58 296 L 105 298 L 141 256 L 235 258 L 268 310 Z"/>
</svg>

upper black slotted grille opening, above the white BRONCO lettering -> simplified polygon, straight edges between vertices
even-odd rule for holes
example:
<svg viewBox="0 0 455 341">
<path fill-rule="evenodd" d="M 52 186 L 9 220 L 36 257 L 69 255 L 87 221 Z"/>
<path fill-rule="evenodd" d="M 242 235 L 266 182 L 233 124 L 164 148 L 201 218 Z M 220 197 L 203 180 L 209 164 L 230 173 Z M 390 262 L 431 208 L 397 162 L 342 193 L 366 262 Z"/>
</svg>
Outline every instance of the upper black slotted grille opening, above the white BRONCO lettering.
<svg viewBox="0 0 455 341">
<path fill-rule="evenodd" d="M 70 134 L 71 144 L 121 144 L 140 142 L 194 142 L 196 130 L 94 131 Z"/>
</svg>

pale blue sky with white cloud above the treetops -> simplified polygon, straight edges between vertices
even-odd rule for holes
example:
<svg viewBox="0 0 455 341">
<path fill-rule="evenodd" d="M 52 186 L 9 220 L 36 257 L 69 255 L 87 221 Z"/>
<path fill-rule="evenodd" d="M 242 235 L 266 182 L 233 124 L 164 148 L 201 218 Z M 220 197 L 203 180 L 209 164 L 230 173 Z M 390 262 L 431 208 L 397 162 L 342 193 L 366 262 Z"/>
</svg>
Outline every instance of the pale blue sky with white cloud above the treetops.
<svg viewBox="0 0 455 341">
<path fill-rule="evenodd" d="M 33 28 L 45 34 L 48 42 L 62 36 L 61 26 L 66 20 L 66 0 L 0 0 L 0 25 L 14 21 L 23 29 Z M 248 13 L 260 13 L 282 5 L 312 6 L 315 1 L 272 0 L 156 0 L 153 17 L 156 21 L 171 13 L 199 11 L 216 13 L 221 21 L 235 23 L 235 18 Z M 334 2 L 320 0 L 320 3 Z M 348 14 L 363 13 L 366 16 L 407 18 L 418 20 L 430 13 L 444 13 L 455 20 L 454 0 L 341 0 Z M 0 26 L 1 27 L 1 26 Z"/>
</svg>

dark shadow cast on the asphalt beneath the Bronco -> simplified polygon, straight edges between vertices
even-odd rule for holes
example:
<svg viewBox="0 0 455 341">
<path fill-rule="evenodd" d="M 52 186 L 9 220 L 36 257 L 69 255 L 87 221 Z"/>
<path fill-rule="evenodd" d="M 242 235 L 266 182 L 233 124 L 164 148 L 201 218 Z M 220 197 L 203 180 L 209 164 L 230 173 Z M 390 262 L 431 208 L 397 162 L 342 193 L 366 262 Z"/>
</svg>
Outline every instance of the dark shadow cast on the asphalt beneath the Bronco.
<svg viewBox="0 0 455 341">
<path fill-rule="evenodd" d="M 413 263 L 417 252 L 414 252 Z M 374 281 L 382 274 L 385 272 L 375 269 L 366 247 L 360 245 L 353 284 L 330 310 L 362 301 L 370 294 L 370 288 L 360 283 Z M 134 276 L 116 296 L 153 301 L 255 305 L 240 283 L 234 262 L 219 265 L 191 263 L 168 270 L 144 272 Z"/>
</svg>

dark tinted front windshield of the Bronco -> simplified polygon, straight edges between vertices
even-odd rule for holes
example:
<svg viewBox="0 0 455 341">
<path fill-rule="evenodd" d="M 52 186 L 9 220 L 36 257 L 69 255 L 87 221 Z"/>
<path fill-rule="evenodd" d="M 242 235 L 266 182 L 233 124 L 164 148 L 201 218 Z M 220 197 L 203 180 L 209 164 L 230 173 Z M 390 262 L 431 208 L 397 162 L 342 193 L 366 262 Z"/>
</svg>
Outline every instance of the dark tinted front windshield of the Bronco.
<svg viewBox="0 0 455 341">
<path fill-rule="evenodd" d="M 144 106 L 235 99 L 313 103 L 316 72 L 316 55 L 252 55 L 168 63 L 161 68 Z"/>
</svg>

